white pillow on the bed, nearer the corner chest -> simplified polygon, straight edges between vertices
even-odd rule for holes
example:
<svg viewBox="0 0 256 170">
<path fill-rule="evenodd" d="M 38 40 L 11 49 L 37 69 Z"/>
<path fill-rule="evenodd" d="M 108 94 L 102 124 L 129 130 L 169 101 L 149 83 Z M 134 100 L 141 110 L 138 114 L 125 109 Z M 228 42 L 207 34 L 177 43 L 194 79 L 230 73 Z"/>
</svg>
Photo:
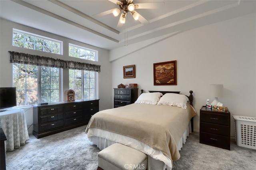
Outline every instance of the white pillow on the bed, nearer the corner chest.
<svg viewBox="0 0 256 170">
<path fill-rule="evenodd" d="M 142 93 L 134 103 L 156 105 L 162 95 L 160 92 Z"/>
</svg>

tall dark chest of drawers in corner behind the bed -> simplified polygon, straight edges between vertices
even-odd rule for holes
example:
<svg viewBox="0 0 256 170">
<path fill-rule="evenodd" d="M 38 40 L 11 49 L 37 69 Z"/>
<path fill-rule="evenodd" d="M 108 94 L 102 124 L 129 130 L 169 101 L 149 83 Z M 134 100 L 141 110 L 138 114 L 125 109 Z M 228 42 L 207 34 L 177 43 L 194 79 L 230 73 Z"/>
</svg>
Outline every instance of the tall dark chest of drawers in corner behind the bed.
<svg viewBox="0 0 256 170">
<path fill-rule="evenodd" d="M 114 88 L 114 108 L 129 105 L 138 99 L 138 89 Z"/>
</svg>

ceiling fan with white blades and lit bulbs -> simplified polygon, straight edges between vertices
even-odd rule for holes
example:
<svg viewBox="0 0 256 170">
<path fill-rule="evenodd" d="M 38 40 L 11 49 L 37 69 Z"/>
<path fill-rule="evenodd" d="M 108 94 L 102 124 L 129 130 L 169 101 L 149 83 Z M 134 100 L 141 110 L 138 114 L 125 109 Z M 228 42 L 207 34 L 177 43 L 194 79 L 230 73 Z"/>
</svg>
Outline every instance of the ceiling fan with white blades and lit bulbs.
<svg viewBox="0 0 256 170">
<path fill-rule="evenodd" d="M 142 24 L 148 24 L 149 23 L 148 20 L 146 20 L 143 16 L 141 16 L 138 12 L 136 12 L 135 9 L 156 9 L 156 8 L 162 8 L 164 6 L 164 2 L 134 4 L 133 0 L 121 0 L 121 1 L 108 0 L 108 1 L 113 2 L 114 4 L 117 4 L 119 8 L 107 10 L 99 14 L 95 14 L 94 16 L 104 16 L 111 13 L 114 16 L 118 16 L 122 12 L 118 22 L 118 27 L 122 26 L 122 24 L 125 23 L 126 16 L 128 15 L 128 13 L 132 15 L 134 20 L 139 20 Z"/>
</svg>

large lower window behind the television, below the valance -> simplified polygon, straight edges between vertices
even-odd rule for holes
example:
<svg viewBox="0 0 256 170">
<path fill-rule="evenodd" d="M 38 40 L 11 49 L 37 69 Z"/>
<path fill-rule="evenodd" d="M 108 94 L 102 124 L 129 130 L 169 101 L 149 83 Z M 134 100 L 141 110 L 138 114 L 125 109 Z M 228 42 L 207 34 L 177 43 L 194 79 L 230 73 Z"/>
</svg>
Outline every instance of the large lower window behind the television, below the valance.
<svg viewBox="0 0 256 170">
<path fill-rule="evenodd" d="M 51 103 L 60 100 L 60 69 L 26 64 L 13 64 L 13 86 L 17 106 Z"/>
</svg>

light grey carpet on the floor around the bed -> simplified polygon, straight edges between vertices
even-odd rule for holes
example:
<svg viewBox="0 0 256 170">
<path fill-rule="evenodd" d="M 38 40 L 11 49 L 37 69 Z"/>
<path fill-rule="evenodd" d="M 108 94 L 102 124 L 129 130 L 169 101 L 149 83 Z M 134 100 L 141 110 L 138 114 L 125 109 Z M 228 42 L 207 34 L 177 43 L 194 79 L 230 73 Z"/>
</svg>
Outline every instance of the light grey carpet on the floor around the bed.
<svg viewBox="0 0 256 170">
<path fill-rule="evenodd" d="M 96 170 L 100 151 L 78 127 L 37 139 L 30 135 L 24 146 L 6 152 L 7 170 Z M 173 162 L 173 170 L 254 170 L 256 150 L 237 146 L 231 150 L 199 143 L 199 133 L 188 136 Z"/>
</svg>

